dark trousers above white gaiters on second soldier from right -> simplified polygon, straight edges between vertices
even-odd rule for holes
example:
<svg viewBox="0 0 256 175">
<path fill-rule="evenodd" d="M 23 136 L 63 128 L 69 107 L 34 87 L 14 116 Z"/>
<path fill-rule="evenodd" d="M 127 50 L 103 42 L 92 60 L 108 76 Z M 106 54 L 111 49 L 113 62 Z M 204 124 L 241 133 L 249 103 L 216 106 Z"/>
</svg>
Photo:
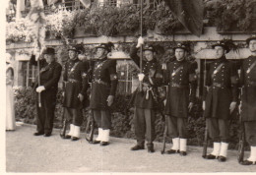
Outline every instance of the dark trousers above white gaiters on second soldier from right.
<svg viewBox="0 0 256 175">
<path fill-rule="evenodd" d="M 229 142 L 228 120 L 207 118 L 206 125 L 208 127 L 209 136 L 215 143 Z"/>
</svg>

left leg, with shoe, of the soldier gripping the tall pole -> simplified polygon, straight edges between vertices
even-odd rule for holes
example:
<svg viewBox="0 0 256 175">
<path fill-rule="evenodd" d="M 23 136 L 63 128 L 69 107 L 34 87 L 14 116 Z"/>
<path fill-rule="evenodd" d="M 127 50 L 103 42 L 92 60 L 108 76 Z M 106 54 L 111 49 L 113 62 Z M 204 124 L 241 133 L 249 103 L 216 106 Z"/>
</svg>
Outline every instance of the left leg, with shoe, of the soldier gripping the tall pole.
<svg viewBox="0 0 256 175">
<path fill-rule="evenodd" d="M 133 146 L 131 150 L 144 149 L 146 121 L 144 116 L 144 109 L 135 107 L 134 111 L 134 129 L 137 140 L 137 145 Z"/>
</svg>

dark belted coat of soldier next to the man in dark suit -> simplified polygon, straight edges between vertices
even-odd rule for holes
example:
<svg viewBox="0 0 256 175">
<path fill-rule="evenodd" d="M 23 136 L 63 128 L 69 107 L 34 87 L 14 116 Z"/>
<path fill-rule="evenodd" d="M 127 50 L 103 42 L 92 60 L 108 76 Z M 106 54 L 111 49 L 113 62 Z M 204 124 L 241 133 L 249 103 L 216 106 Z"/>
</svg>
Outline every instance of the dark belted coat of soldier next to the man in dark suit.
<svg viewBox="0 0 256 175">
<path fill-rule="evenodd" d="M 64 107 L 83 108 L 87 98 L 89 70 L 88 64 L 79 59 L 68 60 L 63 73 Z M 84 101 L 80 101 L 79 93 L 84 95 Z"/>
</svg>

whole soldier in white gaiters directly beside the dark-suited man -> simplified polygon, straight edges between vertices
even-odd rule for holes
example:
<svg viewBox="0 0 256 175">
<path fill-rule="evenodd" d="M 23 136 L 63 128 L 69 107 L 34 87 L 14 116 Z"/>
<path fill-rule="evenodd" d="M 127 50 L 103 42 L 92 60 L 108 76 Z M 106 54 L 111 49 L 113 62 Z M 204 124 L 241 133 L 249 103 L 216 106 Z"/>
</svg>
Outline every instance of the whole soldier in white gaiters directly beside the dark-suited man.
<svg viewBox="0 0 256 175">
<path fill-rule="evenodd" d="M 89 70 L 88 64 L 78 59 L 78 45 L 71 46 L 69 60 L 66 62 L 63 74 L 64 117 L 70 123 L 70 130 L 64 139 L 77 141 L 80 138 L 80 127 L 83 123 L 83 108 L 87 98 Z"/>
</svg>

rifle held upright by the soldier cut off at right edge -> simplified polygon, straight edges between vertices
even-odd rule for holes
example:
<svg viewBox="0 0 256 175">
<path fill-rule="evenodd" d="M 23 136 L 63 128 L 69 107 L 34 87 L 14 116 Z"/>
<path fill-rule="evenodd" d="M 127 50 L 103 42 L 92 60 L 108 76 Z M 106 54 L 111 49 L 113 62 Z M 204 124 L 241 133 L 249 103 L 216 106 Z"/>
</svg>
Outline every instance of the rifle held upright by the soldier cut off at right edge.
<svg viewBox="0 0 256 175">
<path fill-rule="evenodd" d="M 242 94 L 242 89 L 241 89 Z M 239 143 L 238 143 L 238 163 L 243 161 L 244 156 L 244 142 L 245 142 L 245 131 L 244 131 L 244 122 L 242 121 L 241 112 L 239 111 L 239 124 L 240 124 L 240 133 L 239 133 Z"/>
</svg>

